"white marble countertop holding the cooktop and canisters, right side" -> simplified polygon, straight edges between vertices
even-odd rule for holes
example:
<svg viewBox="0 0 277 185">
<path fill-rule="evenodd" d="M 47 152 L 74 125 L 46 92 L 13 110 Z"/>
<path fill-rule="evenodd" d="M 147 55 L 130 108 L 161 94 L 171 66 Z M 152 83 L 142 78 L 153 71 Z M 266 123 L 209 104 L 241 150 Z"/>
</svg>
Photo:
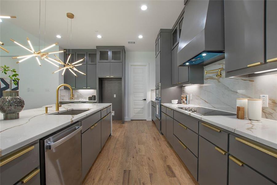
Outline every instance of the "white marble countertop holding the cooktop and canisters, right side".
<svg viewBox="0 0 277 185">
<path fill-rule="evenodd" d="M 198 107 L 195 105 L 171 103 L 163 103 L 162 105 L 277 149 L 277 121 L 275 120 L 262 118 L 260 121 L 253 121 L 237 119 L 236 116 L 201 116 L 177 108 Z"/>
</svg>

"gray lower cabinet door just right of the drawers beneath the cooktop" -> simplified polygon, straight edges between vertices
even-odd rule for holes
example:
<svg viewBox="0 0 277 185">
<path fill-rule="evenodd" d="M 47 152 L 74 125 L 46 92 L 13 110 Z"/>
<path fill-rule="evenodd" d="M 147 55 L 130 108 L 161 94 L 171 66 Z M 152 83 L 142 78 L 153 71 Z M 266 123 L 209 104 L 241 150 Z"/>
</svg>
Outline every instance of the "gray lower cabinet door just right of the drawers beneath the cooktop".
<svg viewBox="0 0 277 185">
<path fill-rule="evenodd" d="M 218 148 L 217 148 L 218 149 Z M 223 151 L 223 150 L 222 150 Z M 216 146 L 199 136 L 198 182 L 199 184 L 227 184 L 228 154 L 220 153 Z"/>
</svg>

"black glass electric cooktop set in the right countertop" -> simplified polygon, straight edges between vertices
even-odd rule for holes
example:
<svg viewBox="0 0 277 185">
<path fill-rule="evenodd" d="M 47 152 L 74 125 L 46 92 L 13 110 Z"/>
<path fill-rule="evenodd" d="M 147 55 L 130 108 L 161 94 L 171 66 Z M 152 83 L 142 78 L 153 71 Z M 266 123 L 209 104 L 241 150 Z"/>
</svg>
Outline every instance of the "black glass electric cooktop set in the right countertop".
<svg viewBox="0 0 277 185">
<path fill-rule="evenodd" d="M 186 110 L 188 112 L 196 113 L 201 116 L 229 116 L 236 115 L 235 113 L 228 113 L 225 111 L 208 109 L 204 107 L 178 107 L 179 109 Z"/>
</svg>

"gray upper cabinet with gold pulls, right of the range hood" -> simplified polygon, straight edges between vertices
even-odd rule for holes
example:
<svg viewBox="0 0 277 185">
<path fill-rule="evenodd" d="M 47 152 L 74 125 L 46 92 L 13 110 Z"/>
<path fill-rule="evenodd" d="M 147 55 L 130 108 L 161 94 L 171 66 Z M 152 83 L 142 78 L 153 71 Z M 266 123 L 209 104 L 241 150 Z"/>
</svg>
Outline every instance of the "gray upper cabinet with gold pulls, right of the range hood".
<svg viewBox="0 0 277 185">
<path fill-rule="evenodd" d="M 224 1 L 226 77 L 277 68 L 270 62 L 277 58 L 276 8 L 276 1 Z"/>
</svg>

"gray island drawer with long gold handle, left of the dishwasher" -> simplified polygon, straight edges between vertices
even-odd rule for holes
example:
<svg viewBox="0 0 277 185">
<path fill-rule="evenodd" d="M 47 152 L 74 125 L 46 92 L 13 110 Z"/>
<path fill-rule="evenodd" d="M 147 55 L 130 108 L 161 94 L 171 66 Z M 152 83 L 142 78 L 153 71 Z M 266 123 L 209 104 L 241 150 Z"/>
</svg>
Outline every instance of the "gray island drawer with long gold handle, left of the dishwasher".
<svg viewBox="0 0 277 185">
<path fill-rule="evenodd" d="M 34 143 L 1 158 L 0 184 L 14 184 L 38 166 L 39 144 Z"/>
</svg>

